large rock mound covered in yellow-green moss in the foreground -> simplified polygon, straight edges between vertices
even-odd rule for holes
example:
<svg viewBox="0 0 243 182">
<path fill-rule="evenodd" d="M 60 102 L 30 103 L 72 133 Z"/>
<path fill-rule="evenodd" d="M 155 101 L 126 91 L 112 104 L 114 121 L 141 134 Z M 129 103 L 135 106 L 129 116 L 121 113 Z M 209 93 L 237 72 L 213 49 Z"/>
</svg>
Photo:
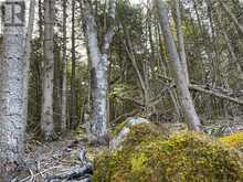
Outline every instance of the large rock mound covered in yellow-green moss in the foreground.
<svg viewBox="0 0 243 182">
<path fill-rule="evenodd" d="M 131 128 L 122 150 L 95 159 L 97 182 L 241 182 L 243 157 L 204 135 L 162 137 L 151 124 Z"/>
</svg>

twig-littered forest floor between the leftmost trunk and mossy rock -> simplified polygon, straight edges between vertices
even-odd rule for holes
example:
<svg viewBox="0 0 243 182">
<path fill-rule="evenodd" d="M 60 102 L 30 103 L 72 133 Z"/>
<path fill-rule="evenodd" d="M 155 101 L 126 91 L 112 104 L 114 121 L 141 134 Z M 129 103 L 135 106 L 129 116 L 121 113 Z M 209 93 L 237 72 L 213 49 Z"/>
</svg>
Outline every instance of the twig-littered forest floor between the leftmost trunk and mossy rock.
<svg viewBox="0 0 243 182">
<path fill-rule="evenodd" d="M 88 159 L 93 160 L 103 148 L 91 147 L 86 141 L 85 136 L 76 132 L 53 142 L 31 140 L 27 144 L 28 170 L 18 182 L 45 182 L 51 176 L 70 171 L 72 167 L 81 165 L 80 143 L 84 143 Z"/>
</svg>

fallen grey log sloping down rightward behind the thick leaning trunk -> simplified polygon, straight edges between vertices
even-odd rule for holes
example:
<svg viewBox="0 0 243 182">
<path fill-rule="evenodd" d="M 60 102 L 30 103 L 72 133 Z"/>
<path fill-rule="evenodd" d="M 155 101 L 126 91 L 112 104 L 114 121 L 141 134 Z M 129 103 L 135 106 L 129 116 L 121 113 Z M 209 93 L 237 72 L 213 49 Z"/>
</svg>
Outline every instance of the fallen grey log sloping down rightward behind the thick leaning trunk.
<svg viewBox="0 0 243 182">
<path fill-rule="evenodd" d="M 165 76 L 158 75 L 158 74 L 157 74 L 157 76 L 159 78 L 161 78 L 161 79 L 165 79 L 165 81 L 168 81 L 168 82 L 172 82 L 172 78 L 170 78 L 170 77 L 165 77 Z M 173 85 L 176 86 L 176 84 L 173 84 Z M 203 94 L 208 94 L 208 95 L 211 95 L 211 96 L 214 96 L 214 97 L 218 97 L 218 98 L 221 98 L 221 99 L 225 99 L 228 101 L 235 103 L 237 105 L 242 105 L 243 106 L 243 100 L 242 99 L 228 96 L 225 94 L 222 94 L 222 93 L 219 93 L 216 90 L 213 90 L 212 88 L 209 88 L 207 86 L 189 84 L 189 89 L 190 90 L 200 92 L 200 93 L 203 93 Z"/>
</svg>

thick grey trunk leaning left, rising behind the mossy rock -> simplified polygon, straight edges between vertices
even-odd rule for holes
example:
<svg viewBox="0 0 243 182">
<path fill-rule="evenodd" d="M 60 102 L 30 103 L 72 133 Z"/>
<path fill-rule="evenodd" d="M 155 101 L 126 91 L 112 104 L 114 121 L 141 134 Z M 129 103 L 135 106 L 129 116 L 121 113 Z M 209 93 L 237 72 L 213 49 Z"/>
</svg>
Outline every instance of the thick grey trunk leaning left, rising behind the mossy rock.
<svg viewBox="0 0 243 182">
<path fill-rule="evenodd" d="M 193 130 L 200 130 L 200 120 L 198 114 L 196 113 L 192 98 L 188 88 L 188 84 L 180 64 L 180 57 L 177 52 L 177 46 L 173 41 L 173 36 L 170 32 L 170 25 L 168 20 L 168 11 L 163 0 L 155 0 L 156 7 L 159 11 L 160 25 L 163 31 L 166 44 L 170 54 L 170 64 L 172 68 L 172 76 L 175 78 L 179 98 L 182 105 L 182 109 L 186 116 L 186 120 L 189 127 Z"/>
</svg>

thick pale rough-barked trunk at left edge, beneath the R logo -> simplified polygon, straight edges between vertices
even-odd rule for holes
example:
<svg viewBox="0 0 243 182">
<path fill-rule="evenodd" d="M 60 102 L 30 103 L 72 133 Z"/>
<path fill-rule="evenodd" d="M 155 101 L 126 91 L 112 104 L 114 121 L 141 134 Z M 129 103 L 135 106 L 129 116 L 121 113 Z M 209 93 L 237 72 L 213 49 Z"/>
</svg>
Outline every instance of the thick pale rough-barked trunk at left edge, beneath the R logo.
<svg viewBox="0 0 243 182">
<path fill-rule="evenodd" d="M 24 152 L 24 2 L 4 3 L 3 53 L 0 60 L 0 181 L 9 181 Z M 23 6 L 21 6 L 23 2 Z M 12 11 L 14 9 L 14 11 Z M 22 15 L 17 19 L 15 13 Z M 10 21 L 11 20 L 11 21 Z M 15 25 L 21 21 L 21 25 Z"/>
</svg>

